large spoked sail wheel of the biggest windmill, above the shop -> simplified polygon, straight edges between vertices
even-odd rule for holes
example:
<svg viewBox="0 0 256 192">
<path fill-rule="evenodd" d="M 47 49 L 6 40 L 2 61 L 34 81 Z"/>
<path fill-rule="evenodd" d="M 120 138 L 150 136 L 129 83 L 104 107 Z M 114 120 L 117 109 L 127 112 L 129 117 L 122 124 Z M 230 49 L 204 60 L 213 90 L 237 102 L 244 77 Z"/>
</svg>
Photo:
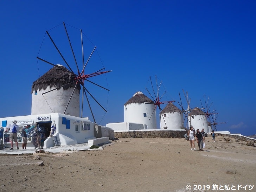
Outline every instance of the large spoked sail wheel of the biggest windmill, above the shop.
<svg viewBox="0 0 256 192">
<path fill-rule="evenodd" d="M 107 81 L 106 79 L 104 81 L 103 74 L 110 72 L 110 70 L 105 71 L 100 57 L 95 56 L 95 52 L 97 52 L 96 46 L 91 43 L 81 29 L 79 30 L 78 28 L 63 23 L 63 28 L 61 30 L 56 30 L 57 28 L 60 28 L 60 25 L 62 24 L 59 24 L 51 30 L 46 31 L 45 36 L 47 35 L 49 38 L 44 38 L 43 43 L 46 44 L 46 46 L 44 47 L 45 49 L 42 49 L 44 45 L 42 43 L 37 59 L 38 63 L 47 63 L 54 66 L 54 68 L 59 68 L 59 70 L 63 70 L 64 66 L 68 70 L 68 75 L 70 75 L 71 78 L 69 82 L 63 82 L 61 85 L 54 84 L 53 82 L 53 88 L 48 91 L 42 90 L 43 92 L 41 95 L 49 94 L 52 91 L 59 90 L 72 84 L 73 91 L 69 95 L 69 101 L 66 102 L 65 109 L 59 112 L 65 114 L 74 92 L 77 91 L 76 88 L 81 86 L 82 91 L 80 94 L 82 95 L 82 98 L 79 98 L 81 103 L 81 117 L 83 117 L 84 112 L 85 96 L 91 116 L 96 123 L 95 115 L 92 110 L 93 107 L 94 109 L 98 109 L 97 114 L 100 113 L 99 109 L 103 110 L 103 113 L 107 113 L 107 104 L 103 106 L 101 101 L 103 100 L 103 95 L 108 96 L 109 91 L 108 88 L 105 88 L 107 87 Z M 71 33 L 68 33 L 68 27 L 69 30 L 72 31 L 72 34 L 74 34 L 73 36 L 70 35 Z M 88 40 L 87 42 L 90 46 L 85 46 L 84 39 Z M 70 47 L 70 49 L 68 49 L 68 47 Z M 84 60 L 85 50 L 89 53 L 86 62 Z M 79 55 L 79 57 L 77 55 Z M 78 65 L 82 66 L 80 70 Z M 102 65 L 102 67 L 99 67 L 100 65 Z M 104 85 L 102 85 L 103 82 L 105 82 Z M 101 94 L 100 91 L 104 91 L 104 94 Z M 94 92 L 94 94 L 92 92 Z M 105 98 L 105 100 L 107 100 L 107 98 Z"/>
</svg>

